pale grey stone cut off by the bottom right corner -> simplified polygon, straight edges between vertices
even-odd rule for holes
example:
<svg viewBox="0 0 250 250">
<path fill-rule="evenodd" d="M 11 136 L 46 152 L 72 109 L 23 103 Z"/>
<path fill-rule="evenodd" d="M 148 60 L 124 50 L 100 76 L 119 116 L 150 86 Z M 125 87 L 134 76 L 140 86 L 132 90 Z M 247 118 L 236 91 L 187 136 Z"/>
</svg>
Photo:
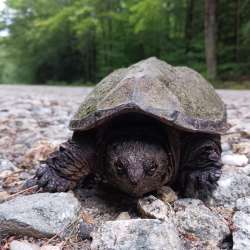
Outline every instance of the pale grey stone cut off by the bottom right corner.
<svg viewBox="0 0 250 250">
<path fill-rule="evenodd" d="M 233 217 L 233 250 L 249 249 L 250 246 L 250 215 L 242 211 Z"/>
</svg>

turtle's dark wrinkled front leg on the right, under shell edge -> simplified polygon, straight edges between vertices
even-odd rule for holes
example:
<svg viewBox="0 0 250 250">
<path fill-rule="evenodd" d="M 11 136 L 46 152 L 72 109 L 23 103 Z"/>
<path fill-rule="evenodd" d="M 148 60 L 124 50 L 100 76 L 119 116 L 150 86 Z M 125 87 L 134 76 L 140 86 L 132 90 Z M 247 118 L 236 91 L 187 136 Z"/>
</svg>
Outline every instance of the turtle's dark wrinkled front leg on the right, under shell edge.
<svg viewBox="0 0 250 250">
<path fill-rule="evenodd" d="M 184 195 L 204 198 L 221 176 L 220 136 L 197 134 L 184 137 L 180 186 Z"/>
</svg>

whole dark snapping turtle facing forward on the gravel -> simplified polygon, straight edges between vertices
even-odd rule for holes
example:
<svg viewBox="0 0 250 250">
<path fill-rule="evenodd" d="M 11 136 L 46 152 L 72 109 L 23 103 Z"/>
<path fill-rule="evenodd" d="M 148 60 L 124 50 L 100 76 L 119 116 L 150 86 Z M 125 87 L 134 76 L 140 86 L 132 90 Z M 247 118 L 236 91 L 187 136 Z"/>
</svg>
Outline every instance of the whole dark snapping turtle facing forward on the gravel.
<svg viewBox="0 0 250 250">
<path fill-rule="evenodd" d="M 34 182 L 66 191 L 96 175 L 133 196 L 164 184 L 213 189 L 221 175 L 223 102 L 187 67 L 157 58 L 104 78 L 70 122 L 73 136 L 41 164 Z"/>
</svg>

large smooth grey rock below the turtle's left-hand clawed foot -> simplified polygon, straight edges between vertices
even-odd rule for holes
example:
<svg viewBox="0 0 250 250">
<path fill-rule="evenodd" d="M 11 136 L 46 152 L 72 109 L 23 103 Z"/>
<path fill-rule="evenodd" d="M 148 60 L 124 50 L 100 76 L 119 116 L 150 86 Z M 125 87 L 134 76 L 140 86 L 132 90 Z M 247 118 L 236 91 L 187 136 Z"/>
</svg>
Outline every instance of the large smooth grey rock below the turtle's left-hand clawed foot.
<svg viewBox="0 0 250 250">
<path fill-rule="evenodd" d="M 75 221 L 80 203 L 72 193 L 38 193 L 0 204 L 0 234 L 51 237 Z"/>
</svg>

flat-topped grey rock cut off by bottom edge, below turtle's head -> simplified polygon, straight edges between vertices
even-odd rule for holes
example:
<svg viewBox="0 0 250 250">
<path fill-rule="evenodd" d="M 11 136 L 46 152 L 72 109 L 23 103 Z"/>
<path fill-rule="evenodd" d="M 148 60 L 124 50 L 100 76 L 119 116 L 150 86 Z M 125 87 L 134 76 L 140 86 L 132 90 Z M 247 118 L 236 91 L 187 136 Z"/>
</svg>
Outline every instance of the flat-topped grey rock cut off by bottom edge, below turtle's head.
<svg viewBox="0 0 250 250">
<path fill-rule="evenodd" d="M 183 249 L 175 225 L 155 219 L 107 221 L 92 238 L 91 250 Z"/>
</svg>

